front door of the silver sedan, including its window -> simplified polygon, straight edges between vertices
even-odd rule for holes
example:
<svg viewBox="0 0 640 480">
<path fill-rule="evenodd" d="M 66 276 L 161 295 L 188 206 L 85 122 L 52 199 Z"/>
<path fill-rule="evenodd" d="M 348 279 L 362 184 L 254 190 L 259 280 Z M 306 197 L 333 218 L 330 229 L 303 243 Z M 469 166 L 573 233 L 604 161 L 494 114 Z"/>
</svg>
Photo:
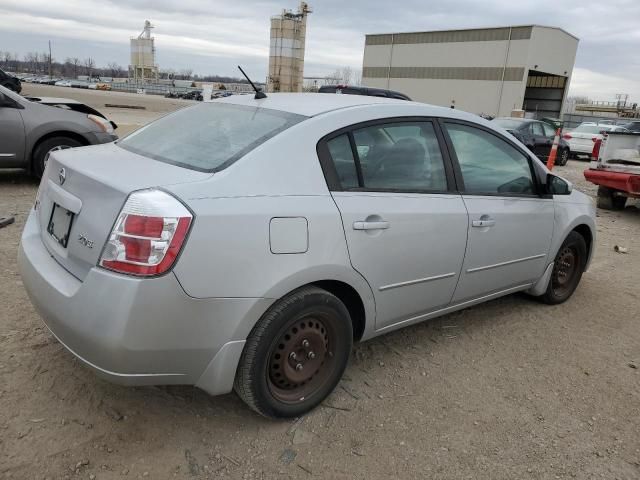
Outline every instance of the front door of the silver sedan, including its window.
<svg viewBox="0 0 640 480">
<path fill-rule="evenodd" d="M 554 219 L 553 199 L 538 195 L 533 160 L 493 130 L 443 125 L 469 212 L 454 303 L 533 283 L 548 264 Z"/>
</svg>

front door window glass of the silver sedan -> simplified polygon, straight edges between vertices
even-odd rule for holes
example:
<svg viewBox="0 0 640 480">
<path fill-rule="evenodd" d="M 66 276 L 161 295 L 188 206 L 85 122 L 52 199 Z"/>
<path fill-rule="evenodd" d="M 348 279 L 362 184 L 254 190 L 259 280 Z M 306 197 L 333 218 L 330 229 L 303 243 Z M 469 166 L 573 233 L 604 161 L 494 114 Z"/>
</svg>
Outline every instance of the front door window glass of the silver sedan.
<svg viewBox="0 0 640 480">
<path fill-rule="evenodd" d="M 479 128 L 446 123 L 465 192 L 488 195 L 533 195 L 529 159 L 498 136 Z"/>
</svg>

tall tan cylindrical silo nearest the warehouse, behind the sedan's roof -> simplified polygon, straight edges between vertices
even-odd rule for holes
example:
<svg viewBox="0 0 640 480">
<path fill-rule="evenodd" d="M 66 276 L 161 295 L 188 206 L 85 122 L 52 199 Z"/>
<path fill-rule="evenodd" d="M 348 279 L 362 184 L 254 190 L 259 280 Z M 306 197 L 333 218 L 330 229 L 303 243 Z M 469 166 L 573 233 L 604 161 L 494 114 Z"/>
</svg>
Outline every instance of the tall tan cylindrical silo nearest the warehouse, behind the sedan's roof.
<svg viewBox="0 0 640 480">
<path fill-rule="evenodd" d="M 311 9 L 300 2 L 298 12 L 283 10 L 271 17 L 271 48 L 269 52 L 269 92 L 301 92 L 304 71 L 304 44 L 307 15 Z"/>
</svg>

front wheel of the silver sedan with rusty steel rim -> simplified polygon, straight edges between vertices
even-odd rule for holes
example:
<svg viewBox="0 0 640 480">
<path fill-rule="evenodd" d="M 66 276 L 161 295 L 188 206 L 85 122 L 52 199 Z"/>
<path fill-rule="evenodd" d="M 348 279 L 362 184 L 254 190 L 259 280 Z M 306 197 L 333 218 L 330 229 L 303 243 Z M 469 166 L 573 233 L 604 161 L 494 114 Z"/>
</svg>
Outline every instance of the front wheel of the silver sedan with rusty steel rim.
<svg viewBox="0 0 640 480">
<path fill-rule="evenodd" d="M 575 292 L 587 264 L 587 243 L 578 232 L 571 232 L 562 243 L 553 262 L 553 271 L 542 302 L 557 305 Z"/>
</svg>

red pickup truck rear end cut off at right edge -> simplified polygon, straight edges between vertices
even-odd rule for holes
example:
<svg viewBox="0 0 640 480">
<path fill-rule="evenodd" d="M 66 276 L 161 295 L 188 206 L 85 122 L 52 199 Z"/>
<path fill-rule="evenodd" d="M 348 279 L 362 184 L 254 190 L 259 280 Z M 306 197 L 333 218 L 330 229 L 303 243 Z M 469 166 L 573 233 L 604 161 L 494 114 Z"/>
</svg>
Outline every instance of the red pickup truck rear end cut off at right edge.
<svg viewBox="0 0 640 480">
<path fill-rule="evenodd" d="M 640 198 L 640 132 L 608 132 L 593 149 L 584 177 L 598 185 L 598 207 L 622 210 Z"/>
</svg>

